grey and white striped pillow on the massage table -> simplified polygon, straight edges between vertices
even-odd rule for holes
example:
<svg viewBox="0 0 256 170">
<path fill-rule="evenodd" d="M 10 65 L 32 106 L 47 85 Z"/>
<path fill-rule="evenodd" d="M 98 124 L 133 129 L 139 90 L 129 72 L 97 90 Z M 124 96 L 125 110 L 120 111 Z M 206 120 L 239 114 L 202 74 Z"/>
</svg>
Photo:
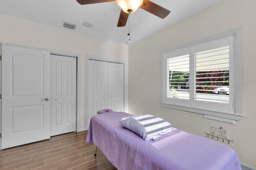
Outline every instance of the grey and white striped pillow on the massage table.
<svg viewBox="0 0 256 170">
<path fill-rule="evenodd" d="M 172 125 L 153 115 L 136 115 L 120 121 L 121 126 L 140 135 L 145 141 L 157 141 L 166 133 L 171 132 Z"/>
</svg>

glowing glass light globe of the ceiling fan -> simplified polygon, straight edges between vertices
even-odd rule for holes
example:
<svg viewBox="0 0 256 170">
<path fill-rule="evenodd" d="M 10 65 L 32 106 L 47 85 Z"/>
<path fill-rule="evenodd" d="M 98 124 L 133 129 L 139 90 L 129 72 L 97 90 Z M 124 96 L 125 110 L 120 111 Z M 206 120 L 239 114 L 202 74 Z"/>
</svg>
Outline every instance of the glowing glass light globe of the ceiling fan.
<svg viewBox="0 0 256 170">
<path fill-rule="evenodd" d="M 122 8 L 122 10 L 129 14 L 128 11 L 135 12 L 143 4 L 143 0 L 116 0 L 116 4 Z"/>
</svg>

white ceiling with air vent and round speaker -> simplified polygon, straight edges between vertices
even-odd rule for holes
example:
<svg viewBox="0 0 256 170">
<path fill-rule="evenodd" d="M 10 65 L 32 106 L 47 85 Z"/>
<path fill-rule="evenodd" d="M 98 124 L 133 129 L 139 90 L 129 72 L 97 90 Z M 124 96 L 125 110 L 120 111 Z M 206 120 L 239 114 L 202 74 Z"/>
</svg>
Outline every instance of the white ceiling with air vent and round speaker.
<svg viewBox="0 0 256 170">
<path fill-rule="evenodd" d="M 171 13 L 164 19 L 139 8 L 130 16 L 130 39 L 134 43 L 172 23 L 190 16 L 219 0 L 151 0 Z M 76 25 L 74 30 L 93 37 L 128 44 L 128 21 L 117 27 L 120 8 L 116 2 L 80 5 L 76 0 L 0 0 L 0 12 L 61 29 L 63 22 Z M 93 27 L 84 27 L 88 22 Z"/>
</svg>

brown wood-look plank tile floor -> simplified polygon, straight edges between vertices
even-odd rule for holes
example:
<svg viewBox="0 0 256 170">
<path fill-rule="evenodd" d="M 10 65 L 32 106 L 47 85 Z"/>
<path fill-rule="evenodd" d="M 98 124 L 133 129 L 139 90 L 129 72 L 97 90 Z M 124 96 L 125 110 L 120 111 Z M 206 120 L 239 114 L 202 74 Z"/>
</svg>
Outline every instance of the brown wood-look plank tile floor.
<svg viewBox="0 0 256 170">
<path fill-rule="evenodd" d="M 0 170 L 117 170 L 97 149 L 86 143 L 87 131 L 0 150 Z"/>
</svg>

